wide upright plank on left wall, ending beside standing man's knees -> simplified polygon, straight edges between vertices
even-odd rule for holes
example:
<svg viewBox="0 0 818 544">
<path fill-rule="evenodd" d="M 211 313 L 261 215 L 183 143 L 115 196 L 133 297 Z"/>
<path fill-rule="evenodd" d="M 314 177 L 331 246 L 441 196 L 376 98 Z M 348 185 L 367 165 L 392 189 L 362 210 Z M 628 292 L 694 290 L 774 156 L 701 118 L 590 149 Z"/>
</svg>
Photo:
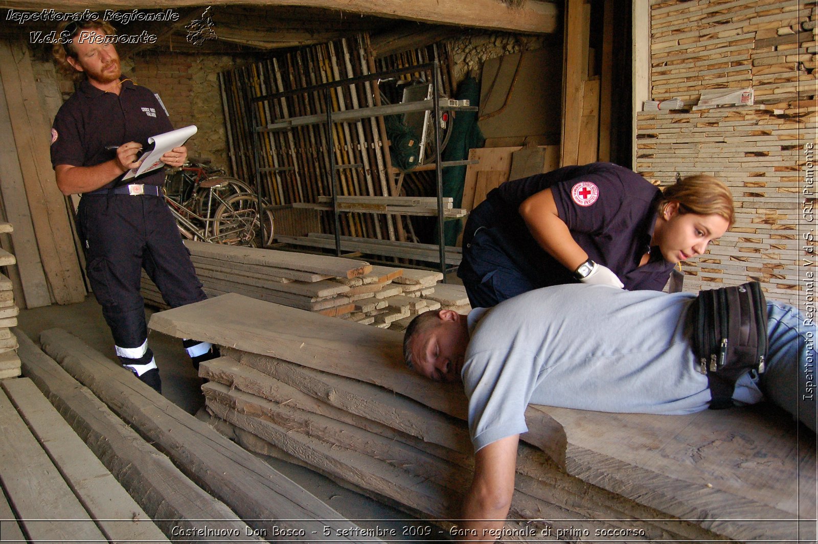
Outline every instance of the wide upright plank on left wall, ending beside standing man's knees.
<svg viewBox="0 0 818 544">
<path fill-rule="evenodd" d="M 30 95 L 36 84 L 25 43 L 0 41 L 0 77 L 48 283 L 57 303 L 82 302 L 85 284 L 74 246 L 65 244 L 73 235 L 65 198 L 56 187 L 48 160 L 49 124 L 43 119 L 38 97 Z"/>
</svg>

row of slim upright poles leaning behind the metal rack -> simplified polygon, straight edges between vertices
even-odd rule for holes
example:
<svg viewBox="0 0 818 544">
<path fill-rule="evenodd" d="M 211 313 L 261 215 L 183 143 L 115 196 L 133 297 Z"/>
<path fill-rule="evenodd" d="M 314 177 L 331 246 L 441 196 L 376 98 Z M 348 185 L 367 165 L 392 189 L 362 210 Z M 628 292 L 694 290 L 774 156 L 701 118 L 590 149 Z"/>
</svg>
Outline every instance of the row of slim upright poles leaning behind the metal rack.
<svg viewBox="0 0 818 544">
<path fill-rule="evenodd" d="M 303 47 L 219 74 L 227 119 L 231 170 L 237 178 L 258 182 L 261 194 L 275 205 L 316 203 L 331 196 L 335 164 L 339 196 L 434 196 L 434 172 L 402 176 L 395 182 L 383 117 L 327 124 L 298 124 L 280 130 L 258 130 L 294 118 L 326 119 L 332 112 L 380 106 L 377 81 L 330 88 L 328 91 L 293 92 L 322 83 L 341 81 L 381 70 L 411 68 L 428 63 L 431 47 L 375 59 L 367 34 Z M 447 62 L 442 62 L 443 92 L 451 88 Z M 431 74 L 407 72 L 406 79 Z M 258 97 L 290 92 L 284 97 Z M 327 96 L 327 93 L 329 96 Z M 330 157 L 330 154 L 332 155 Z M 339 232 L 383 240 L 406 240 L 404 221 L 398 216 L 343 213 Z M 323 214 L 324 232 L 334 230 L 331 214 Z"/>
</svg>

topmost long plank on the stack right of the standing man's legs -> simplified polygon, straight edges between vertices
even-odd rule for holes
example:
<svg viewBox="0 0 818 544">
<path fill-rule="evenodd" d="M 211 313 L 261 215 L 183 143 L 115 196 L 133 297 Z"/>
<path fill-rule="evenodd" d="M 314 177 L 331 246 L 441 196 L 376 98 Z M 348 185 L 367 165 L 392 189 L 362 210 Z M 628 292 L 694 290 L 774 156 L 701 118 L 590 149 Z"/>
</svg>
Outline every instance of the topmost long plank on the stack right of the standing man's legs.
<svg viewBox="0 0 818 544">
<path fill-rule="evenodd" d="M 354 277 L 371 271 L 369 263 L 325 255 L 294 254 L 288 251 L 261 250 L 236 245 L 208 244 L 186 240 L 191 253 L 222 261 L 260 264 L 276 268 L 292 268 L 303 272 L 329 274 L 330 276 Z"/>
</svg>

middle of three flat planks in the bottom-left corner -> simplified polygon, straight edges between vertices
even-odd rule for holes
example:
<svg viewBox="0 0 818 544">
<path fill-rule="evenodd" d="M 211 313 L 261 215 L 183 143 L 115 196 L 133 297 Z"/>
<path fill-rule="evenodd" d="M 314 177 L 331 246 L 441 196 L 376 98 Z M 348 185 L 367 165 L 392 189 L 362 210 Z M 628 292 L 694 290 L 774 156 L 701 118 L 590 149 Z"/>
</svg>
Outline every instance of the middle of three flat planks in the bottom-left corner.
<svg viewBox="0 0 818 544">
<path fill-rule="evenodd" d="M 104 540 L 2 392 L 0 431 L 0 482 L 29 538 L 50 542 Z"/>
</svg>

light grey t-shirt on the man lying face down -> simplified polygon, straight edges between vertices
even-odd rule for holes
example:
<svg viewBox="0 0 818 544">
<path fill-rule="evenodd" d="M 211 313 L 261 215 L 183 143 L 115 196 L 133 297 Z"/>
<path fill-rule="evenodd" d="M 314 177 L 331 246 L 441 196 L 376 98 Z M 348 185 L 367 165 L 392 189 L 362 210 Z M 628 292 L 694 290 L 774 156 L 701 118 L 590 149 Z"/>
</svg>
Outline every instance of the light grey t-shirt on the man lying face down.
<svg viewBox="0 0 818 544">
<path fill-rule="evenodd" d="M 485 312 L 462 371 L 474 449 L 528 431 L 529 402 L 652 414 L 707 409 L 707 376 L 685 331 L 695 296 L 555 285 Z M 745 375 L 733 398 L 759 402 L 762 393 Z"/>
</svg>

